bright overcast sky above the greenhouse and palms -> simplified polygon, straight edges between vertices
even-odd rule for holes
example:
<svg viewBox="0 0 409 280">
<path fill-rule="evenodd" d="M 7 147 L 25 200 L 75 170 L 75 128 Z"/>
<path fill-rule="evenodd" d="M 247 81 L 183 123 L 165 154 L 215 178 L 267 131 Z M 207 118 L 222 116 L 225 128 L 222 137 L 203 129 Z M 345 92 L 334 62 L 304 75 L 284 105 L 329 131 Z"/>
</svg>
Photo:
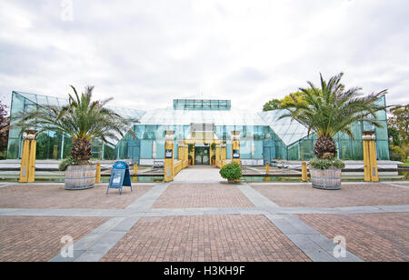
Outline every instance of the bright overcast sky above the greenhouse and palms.
<svg viewBox="0 0 409 280">
<path fill-rule="evenodd" d="M 65 97 L 72 84 L 135 109 L 213 96 L 261 111 L 339 72 L 409 102 L 409 1 L 0 1 L 6 104 L 13 90 Z"/>
</svg>

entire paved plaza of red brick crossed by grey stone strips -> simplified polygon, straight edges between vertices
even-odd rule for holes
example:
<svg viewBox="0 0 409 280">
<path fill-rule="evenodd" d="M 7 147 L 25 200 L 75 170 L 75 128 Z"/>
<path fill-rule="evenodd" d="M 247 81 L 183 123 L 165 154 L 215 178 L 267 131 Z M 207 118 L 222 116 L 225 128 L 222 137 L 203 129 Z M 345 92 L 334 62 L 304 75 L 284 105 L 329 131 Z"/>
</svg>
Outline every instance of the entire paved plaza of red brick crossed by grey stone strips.
<svg viewBox="0 0 409 280">
<path fill-rule="evenodd" d="M 409 261 L 407 182 L 230 185 L 191 167 L 133 185 L 105 195 L 106 185 L 0 183 L 0 261 Z M 60 254 L 64 236 L 72 257 Z"/>
</svg>

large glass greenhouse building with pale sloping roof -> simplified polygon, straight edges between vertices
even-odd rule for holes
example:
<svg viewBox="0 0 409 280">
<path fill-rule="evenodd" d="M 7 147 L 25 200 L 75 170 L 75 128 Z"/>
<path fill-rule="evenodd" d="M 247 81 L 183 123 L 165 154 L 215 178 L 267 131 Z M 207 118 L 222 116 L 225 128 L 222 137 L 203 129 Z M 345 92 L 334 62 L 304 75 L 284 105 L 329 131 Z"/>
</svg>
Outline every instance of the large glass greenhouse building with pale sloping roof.
<svg viewBox="0 0 409 280">
<path fill-rule="evenodd" d="M 385 98 L 379 99 L 385 104 Z M 44 95 L 13 92 L 11 121 L 21 112 L 37 105 L 66 105 L 68 100 Z M 232 107 L 230 100 L 176 99 L 165 109 L 142 111 L 110 107 L 124 117 L 139 119 L 128 133 L 115 143 L 93 143 L 93 157 L 99 160 L 132 159 L 139 165 L 153 165 L 165 159 L 165 131 L 175 131 L 175 158 L 178 145 L 195 146 L 195 164 L 210 164 L 210 145 L 226 145 L 226 158 L 231 159 L 233 131 L 240 131 L 240 156 L 248 165 L 264 165 L 272 160 L 309 160 L 313 158 L 316 138 L 307 135 L 307 129 L 284 110 L 250 112 Z M 378 112 L 383 128 L 367 127 L 362 122 L 353 125 L 354 139 L 344 134 L 335 135 L 338 156 L 344 160 L 363 160 L 362 131 L 374 129 L 379 160 L 389 160 L 386 112 Z M 8 159 L 21 157 L 22 137 L 18 128 L 10 131 Z M 37 138 L 37 159 L 62 159 L 69 155 L 71 141 L 65 135 L 43 133 Z M 202 156 L 201 156 L 202 155 Z"/>
</svg>

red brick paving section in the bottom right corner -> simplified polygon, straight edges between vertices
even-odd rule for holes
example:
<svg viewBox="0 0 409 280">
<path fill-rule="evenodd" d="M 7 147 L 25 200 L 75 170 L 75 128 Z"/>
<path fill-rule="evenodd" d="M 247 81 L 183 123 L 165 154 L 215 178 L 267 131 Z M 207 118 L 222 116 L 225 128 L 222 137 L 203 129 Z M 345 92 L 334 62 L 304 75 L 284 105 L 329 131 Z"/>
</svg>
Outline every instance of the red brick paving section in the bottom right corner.
<svg viewBox="0 0 409 280">
<path fill-rule="evenodd" d="M 369 262 L 409 261 L 409 214 L 298 215 L 333 239 L 346 238 L 346 248 Z"/>
</svg>

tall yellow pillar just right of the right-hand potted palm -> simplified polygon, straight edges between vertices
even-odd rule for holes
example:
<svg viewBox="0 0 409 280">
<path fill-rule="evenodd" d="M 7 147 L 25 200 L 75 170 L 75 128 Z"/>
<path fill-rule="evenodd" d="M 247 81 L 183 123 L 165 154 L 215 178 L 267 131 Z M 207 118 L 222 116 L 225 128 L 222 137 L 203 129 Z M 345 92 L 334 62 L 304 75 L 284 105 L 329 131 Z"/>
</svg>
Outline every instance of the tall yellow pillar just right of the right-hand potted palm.
<svg viewBox="0 0 409 280">
<path fill-rule="evenodd" d="M 374 131 L 364 131 L 364 180 L 365 182 L 379 182 L 378 163 L 376 159 L 376 137 Z"/>
</svg>

